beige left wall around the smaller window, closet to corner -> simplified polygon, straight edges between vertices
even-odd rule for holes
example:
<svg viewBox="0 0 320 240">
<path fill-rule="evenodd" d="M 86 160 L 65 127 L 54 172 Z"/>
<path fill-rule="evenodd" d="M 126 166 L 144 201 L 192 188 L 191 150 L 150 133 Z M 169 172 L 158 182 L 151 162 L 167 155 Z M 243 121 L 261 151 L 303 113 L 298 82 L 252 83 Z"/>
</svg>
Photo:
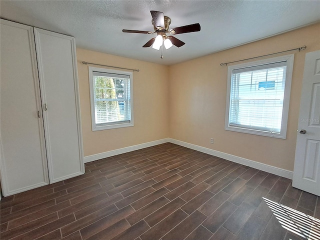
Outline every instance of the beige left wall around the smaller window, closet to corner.
<svg viewBox="0 0 320 240">
<path fill-rule="evenodd" d="M 84 156 L 168 137 L 168 66 L 76 49 Z M 134 126 L 91 130 L 88 66 L 81 61 L 139 69 L 133 73 Z"/>
</svg>

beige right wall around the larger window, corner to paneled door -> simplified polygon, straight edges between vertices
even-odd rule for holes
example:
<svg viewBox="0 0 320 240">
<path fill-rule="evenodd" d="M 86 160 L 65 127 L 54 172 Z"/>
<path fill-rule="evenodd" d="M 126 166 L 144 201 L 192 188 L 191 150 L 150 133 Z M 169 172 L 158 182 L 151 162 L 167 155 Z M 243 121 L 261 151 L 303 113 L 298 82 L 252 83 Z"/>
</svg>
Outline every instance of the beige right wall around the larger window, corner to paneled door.
<svg viewBox="0 0 320 240">
<path fill-rule="evenodd" d="M 319 32 L 320 24 L 313 24 L 170 66 L 169 137 L 293 170 L 304 57 L 306 52 L 320 49 Z M 224 130 L 227 66 L 220 62 L 302 45 L 306 50 L 285 53 L 295 53 L 286 139 Z"/>
</svg>

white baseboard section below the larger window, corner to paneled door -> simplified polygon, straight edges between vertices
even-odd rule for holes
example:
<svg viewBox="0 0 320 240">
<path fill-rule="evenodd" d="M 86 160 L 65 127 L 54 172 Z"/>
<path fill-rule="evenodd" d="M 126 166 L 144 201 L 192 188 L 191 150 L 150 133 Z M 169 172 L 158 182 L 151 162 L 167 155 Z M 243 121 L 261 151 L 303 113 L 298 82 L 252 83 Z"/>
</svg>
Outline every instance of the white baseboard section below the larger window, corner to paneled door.
<svg viewBox="0 0 320 240">
<path fill-rule="evenodd" d="M 188 142 L 175 140 L 175 139 L 172 139 L 172 138 L 169 138 L 168 141 L 171 142 L 171 143 L 180 145 L 180 146 L 184 146 L 184 147 L 196 150 L 196 151 L 204 152 L 204 153 L 207 153 L 207 154 L 210 154 L 210 155 L 213 155 L 213 156 L 221 157 L 221 158 L 229 160 L 229 161 L 240 163 L 240 164 L 245 165 L 245 166 L 250 166 L 250 167 L 253 167 L 255 169 L 266 171 L 266 172 L 269 172 L 269 173 L 272 173 L 272 174 L 275 174 L 275 175 L 278 175 L 278 176 L 283 176 L 283 177 L 286 177 L 286 178 L 289 178 L 289 179 L 292 179 L 292 176 L 293 176 L 293 171 L 289 171 L 289 170 L 286 170 L 286 169 L 283 169 L 283 168 L 279 168 L 279 167 L 276 167 L 276 166 L 271 166 L 271 165 L 268 165 L 268 164 L 265 164 L 265 163 L 253 161 L 253 160 L 246 159 L 246 158 L 243 158 L 243 157 L 240 157 L 240 156 L 235 156 L 235 155 L 232 155 L 232 154 L 229 154 L 229 153 L 216 151 L 216 150 L 209 149 L 209 148 L 206 148 L 206 147 L 203 147 L 203 146 L 194 145 L 194 144 L 191 144 L 191 143 L 188 143 Z"/>
</svg>

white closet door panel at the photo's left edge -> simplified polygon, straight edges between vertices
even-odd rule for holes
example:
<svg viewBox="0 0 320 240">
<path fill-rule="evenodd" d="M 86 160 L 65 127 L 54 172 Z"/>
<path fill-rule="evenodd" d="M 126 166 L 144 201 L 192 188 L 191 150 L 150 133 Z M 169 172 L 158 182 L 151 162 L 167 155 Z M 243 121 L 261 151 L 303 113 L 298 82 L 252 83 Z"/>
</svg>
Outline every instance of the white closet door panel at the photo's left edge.
<svg viewBox="0 0 320 240">
<path fill-rule="evenodd" d="M 1 19 L 0 35 L 1 184 L 8 196 L 48 184 L 48 174 L 32 27 Z"/>
</svg>

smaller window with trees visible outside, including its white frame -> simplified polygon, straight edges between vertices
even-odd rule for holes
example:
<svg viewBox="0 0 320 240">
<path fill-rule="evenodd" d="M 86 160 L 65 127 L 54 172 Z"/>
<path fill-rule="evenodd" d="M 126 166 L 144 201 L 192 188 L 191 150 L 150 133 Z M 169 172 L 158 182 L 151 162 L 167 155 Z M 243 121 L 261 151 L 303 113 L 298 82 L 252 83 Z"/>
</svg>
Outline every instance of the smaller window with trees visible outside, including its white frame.
<svg viewBox="0 0 320 240">
<path fill-rule="evenodd" d="M 92 130 L 133 126 L 132 72 L 89 66 Z"/>
</svg>

